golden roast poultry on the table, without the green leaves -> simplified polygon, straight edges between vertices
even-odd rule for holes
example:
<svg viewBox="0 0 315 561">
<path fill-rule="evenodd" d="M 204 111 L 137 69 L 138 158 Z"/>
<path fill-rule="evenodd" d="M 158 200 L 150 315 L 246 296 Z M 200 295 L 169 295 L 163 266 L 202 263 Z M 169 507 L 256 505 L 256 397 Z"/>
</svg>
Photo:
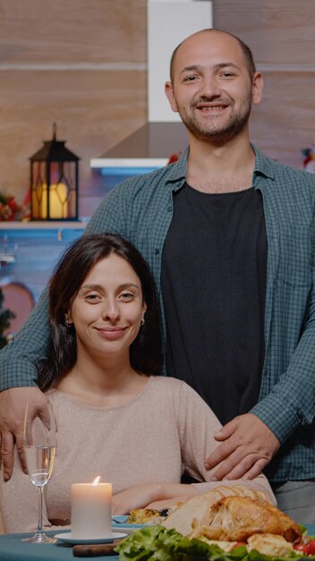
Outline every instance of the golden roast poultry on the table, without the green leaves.
<svg viewBox="0 0 315 561">
<path fill-rule="evenodd" d="M 286 557 L 301 539 L 298 524 L 270 505 L 267 495 L 241 485 L 220 486 L 194 496 L 162 525 L 227 553 L 242 542 L 248 552 L 255 549 L 264 555 Z"/>
</svg>

